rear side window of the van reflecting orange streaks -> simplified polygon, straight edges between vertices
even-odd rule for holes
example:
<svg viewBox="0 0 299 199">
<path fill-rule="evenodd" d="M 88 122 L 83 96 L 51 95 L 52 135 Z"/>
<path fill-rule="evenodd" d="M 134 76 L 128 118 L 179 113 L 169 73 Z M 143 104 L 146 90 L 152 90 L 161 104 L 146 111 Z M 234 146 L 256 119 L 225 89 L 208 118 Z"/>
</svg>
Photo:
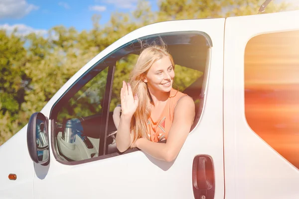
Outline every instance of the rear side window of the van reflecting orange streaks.
<svg viewBox="0 0 299 199">
<path fill-rule="evenodd" d="M 249 126 L 299 168 L 299 31 L 253 37 L 244 64 Z"/>
</svg>

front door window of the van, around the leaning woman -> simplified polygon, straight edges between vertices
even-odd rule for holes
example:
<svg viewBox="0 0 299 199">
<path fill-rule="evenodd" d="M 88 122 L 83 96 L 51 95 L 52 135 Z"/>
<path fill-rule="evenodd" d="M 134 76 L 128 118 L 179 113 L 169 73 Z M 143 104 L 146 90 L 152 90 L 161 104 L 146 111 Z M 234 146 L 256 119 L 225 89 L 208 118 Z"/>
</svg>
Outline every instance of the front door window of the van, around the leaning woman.
<svg viewBox="0 0 299 199">
<path fill-rule="evenodd" d="M 129 42 L 110 53 L 87 71 L 56 102 L 52 119 L 52 148 L 57 161 L 81 164 L 118 156 L 114 113 L 120 108 L 122 81 L 129 81 L 141 45 L 159 43 L 162 38 L 174 59 L 173 88 L 193 98 L 197 124 L 202 112 L 204 81 L 208 67 L 210 45 L 202 32 L 170 32 L 149 35 Z M 191 129 L 192 130 L 192 129 Z M 130 153 L 138 149 L 129 149 Z"/>
</svg>

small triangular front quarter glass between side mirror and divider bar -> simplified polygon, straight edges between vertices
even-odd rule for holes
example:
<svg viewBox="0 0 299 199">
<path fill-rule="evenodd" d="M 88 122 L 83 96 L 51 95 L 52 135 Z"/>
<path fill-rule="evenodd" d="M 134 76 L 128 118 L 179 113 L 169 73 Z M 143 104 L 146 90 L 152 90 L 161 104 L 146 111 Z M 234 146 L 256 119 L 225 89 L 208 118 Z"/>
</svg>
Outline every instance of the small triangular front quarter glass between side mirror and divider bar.
<svg viewBox="0 0 299 199">
<path fill-rule="evenodd" d="M 108 67 L 64 103 L 57 115 L 55 141 L 61 159 L 97 157 Z"/>
</svg>

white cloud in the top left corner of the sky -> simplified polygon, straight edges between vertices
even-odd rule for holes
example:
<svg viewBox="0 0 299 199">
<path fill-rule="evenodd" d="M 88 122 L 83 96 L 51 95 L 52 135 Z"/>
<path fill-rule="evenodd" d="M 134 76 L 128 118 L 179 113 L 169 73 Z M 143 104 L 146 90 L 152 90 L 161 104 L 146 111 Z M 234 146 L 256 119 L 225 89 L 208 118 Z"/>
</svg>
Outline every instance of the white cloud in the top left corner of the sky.
<svg viewBox="0 0 299 199">
<path fill-rule="evenodd" d="M 26 0 L 0 0 L 0 19 L 21 18 L 39 7 Z"/>
</svg>

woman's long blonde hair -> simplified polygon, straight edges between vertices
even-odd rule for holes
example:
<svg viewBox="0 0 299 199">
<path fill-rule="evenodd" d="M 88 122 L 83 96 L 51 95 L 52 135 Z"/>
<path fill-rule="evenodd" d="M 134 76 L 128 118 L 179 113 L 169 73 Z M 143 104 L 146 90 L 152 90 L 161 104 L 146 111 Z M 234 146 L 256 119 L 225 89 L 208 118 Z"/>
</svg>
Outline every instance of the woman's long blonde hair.
<svg viewBox="0 0 299 199">
<path fill-rule="evenodd" d="M 132 117 L 131 121 L 131 132 L 133 133 L 133 143 L 138 138 L 144 137 L 149 138 L 148 133 L 148 119 L 150 116 L 150 102 L 151 97 L 149 95 L 148 86 L 143 81 L 149 68 L 154 62 L 163 58 L 164 56 L 169 57 L 173 69 L 174 61 L 172 56 L 168 53 L 166 45 L 161 41 L 162 45 L 149 45 L 142 50 L 137 63 L 130 73 L 130 84 L 132 87 L 133 95 L 137 95 L 139 98 L 137 109 Z"/>
</svg>

